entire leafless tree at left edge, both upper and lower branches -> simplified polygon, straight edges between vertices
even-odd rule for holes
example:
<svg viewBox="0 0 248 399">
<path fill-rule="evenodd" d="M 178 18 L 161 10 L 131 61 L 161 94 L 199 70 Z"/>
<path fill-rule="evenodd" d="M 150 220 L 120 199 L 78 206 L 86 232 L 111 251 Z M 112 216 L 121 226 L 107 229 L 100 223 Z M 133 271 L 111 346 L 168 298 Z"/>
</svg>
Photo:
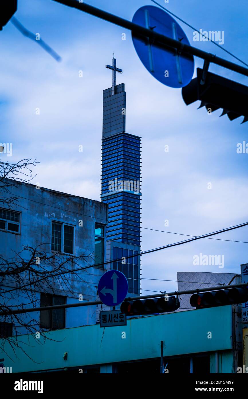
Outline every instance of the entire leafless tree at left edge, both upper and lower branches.
<svg viewBox="0 0 248 399">
<path fill-rule="evenodd" d="M 12 189 L 23 183 L 29 183 L 36 175 L 32 174 L 32 167 L 39 162 L 32 159 L 22 159 L 16 163 L 0 162 L 0 207 L 12 209 L 14 205 L 20 207 L 20 198 L 12 193 Z M 46 250 L 49 249 L 49 250 Z M 0 253 L 0 312 L 6 316 L 0 316 L 0 322 L 11 323 L 13 326 L 12 336 L 0 335 L 0 349 L 10 358 L 8 348 L 12 348 L 14 356 L 18 359 L 17 351 L 23 352 L 30 359 L 30 355 L 24 348 L 24 343 L 18 338 L 18 330 L 25 331 L 28 335 L 28 346 L 31 336 L 36 338 L 37 332 L 44 341 L 49 339 L 48 329 L 40 326 L 40 312 L 30 314 L 11 314 L 15 309 L 40 307 L 40 293 L 64 295 L 78 298 L 80 292 L 74 292 L 73 275 L 76 275 L 77 283 L 86 283 L 82 275 L 74 272 L 76 267 L 81 267 L 94 259 L 90 255 L 66 255 L 61 257 L 60 253 L 51 253 L 50 245 L 42 243 L 37 247 L 23 245 L 19 252 L 8 248 L 8 259 Z M 64 272 L 68 272 L 63 274 Z M 61 273 L 61 274 L 60 274 Z M 59 275 L 57 275 L 59 274 Z M 1 339 L 4 338 L 4 339 Z M 39 339 L 37 342 L 41 344 Z M 26 344 L 27 345 L 27 344 Z M 11 359 L 11 358 L 10 358 Z M 14 361 L 14 359 L 11 359 Z M 34 359 L 32 359 L 35 361 Z M 35 361 L 35 363 L 37 363 Z"/>
</svg>

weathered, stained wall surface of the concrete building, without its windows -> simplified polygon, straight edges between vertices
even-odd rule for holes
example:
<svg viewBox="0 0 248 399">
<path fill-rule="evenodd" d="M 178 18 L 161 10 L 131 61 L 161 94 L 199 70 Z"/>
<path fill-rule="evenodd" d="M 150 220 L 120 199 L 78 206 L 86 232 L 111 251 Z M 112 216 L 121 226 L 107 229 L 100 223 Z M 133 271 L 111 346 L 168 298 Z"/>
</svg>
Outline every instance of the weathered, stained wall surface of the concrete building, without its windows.
<svg viewBox="0 0 248 399">
<path fill-rule="evenodd" d="M 32 184 L 20 184 L 13 188 L 6 197 L 17 196 L 18 205 L 14 211 L 21 213 L 20 234 L 0 231 L 0 253 L 5 259 L 19 252 L 23 245 L 37 247 L 43 244 L 42 249 L 51 254 L 51 225 L 52 221 L 64 222 L 74 226 L 75 256 L 84 254 L 85 260 L 80 261 L 80 267 L 94 264 L 94 229 L 95 223 L 107 223 L 107 205 L 100 201 L 64 194 L 46 188 L 37 189 Z M 82 220 L 83 225 L 79 226 Z M 10 255 L 12 253 L 12 255 Z M 65 261 L 69 255 L 60 253 L 59 258 Z M 70 263 L 68 268 L 77 268 Z M 67 303 L 78 303 L 79 294 L 83 301 L 97 300 L 97 285 L 103 274 L 103 269 L 92 267 L 77 272 L 78 275 L 68 273 L 70 291 L 62 282 L 61 287 L 55 284 L 55 294 L 67 296 Z M 82 281 L 83 280 L 83 281 Z M 60 288 L 60 289 L 59 289 Z M 48 290 L 49 292 L 49 290 Z M 39 298 L 38 298 L 39 302 Z M 11 301 L 8 305 L 15 306 Z M 33 307 L 33 306 L 28 306 Z M 31 314 L 33 318 L 33 314 Z M 1 319 L 2 320 L 2 319 Z M 96 306 L 69 308 L 66 310 L 66 327 L 83 326 L 96 323 Z M 23 328 L 20 334 L 23 334 Z"/>
</svg>

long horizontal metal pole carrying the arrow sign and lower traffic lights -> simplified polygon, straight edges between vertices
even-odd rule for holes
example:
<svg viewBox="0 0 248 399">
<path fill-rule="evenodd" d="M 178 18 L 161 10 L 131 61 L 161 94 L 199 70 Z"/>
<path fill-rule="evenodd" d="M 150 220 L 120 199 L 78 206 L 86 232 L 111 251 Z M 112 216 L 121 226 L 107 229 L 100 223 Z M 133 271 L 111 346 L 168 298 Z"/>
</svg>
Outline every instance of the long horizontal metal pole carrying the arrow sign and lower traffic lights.
<svg viewBox="0 0 248 399">
<path fill-rule="evenodd" d="M 208 292 L 208 291 L 216 291 L 216 290 L 230 290 L 231 288 L 241 288 L 247 286 L 247 283 L 242 284 L 234 284 L 234 285 L 225 285 L 225 286 L 217 286 L 211 288 L 199 288 L 195 290 L 187 290 L 187 291 L 175 291 L 175 292 L 167 292 L 166 295 L 168 296 L 179 296 L 184 294 L 194 294 L 195 292 Z M 144 296 L 132 296 L 130 298 L 125 298 L 125 301 L 132 301 L 137 299 L 148 299 L 148 298 L 161 298 L 163 294 L 156 294 L 156 295 L 144 295 Z M 92 306 L 92 305 L 101 305 L 103 302 L 100 300 L 96 300 L 93 302 L 83 302 L 83 303 L 71 303 L 71 304 L 64 304 L 64 305 L 53 305 L 53 306 L 41 306 L 39 308 L 29 308 L 29 309 L 13 309 L 6 312 L 0 312 L 0 316 L 7 316 L 8 314 L 20 314 L 20 313 L 30 313 L 30 312 L 40 312 L 42 310 L 53 310 L 53 309 L 66 309 L 66 308 L 76 308 L 78 306 Z"/>
</svg>

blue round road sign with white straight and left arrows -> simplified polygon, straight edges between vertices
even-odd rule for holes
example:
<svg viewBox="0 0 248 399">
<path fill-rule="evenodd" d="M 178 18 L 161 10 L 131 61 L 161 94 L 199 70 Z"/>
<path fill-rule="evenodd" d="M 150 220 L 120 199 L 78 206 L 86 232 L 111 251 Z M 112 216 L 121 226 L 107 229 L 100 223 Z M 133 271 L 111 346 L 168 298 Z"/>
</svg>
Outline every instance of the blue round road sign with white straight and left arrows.
<svg viewBox="0 0 248 399">
<path fill-rule="evenodd" d="M 98 295 L 107 306 L 119 305 L 126 298 L 127 291 L 127 279 L 118 270 L 109 270 L 99 280 Z"/>
</svg>

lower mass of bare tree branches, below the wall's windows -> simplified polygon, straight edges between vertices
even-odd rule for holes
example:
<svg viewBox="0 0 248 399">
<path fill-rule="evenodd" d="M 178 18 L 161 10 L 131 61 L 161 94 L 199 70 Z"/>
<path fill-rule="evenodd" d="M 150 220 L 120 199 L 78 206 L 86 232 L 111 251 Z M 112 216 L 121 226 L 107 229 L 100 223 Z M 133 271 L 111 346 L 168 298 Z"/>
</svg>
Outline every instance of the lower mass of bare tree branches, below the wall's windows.
<svg viewBox="0 0 248 399">
<path fill-rule="evenodd" d="M 40 326 L 39 316 L 32 317 L 36 313 L 11 314 L 11 310 L 40 307 L 40 292 L 57 295 L 59 292 L 60 295 L 62 293 L 67 296 L 69 293 L 70 296 L 78 298 L 79 293 L 74 292 L 75 275 L 77 282 L 86 283 L 74 269 L 82 267 L 82 263 L 90 265 L 92 256 L 68 255 L 62 261 L 59 253 L 49 255 L 42 247 L 43 245 L 36 248 L 25 246 L 8 260 L 0 255 L 0 312 L 5 313 L 4 316 L 0 316 L 0 322 L 11 323 L 13 326 L 12 337 L 0 336 L 4 338 L 0 340 L 0 349 L 8 357 L 9 353 L 5 350 L 7 343 L 15 354 L 19 348 L 30 358 L 23 345 L 20 345 L 17 335 L 19 328 L 24 328 L 26 334 L 35 335 L 39 332 L 45 340 L 52 339 L 45 334 L 47 328 Z"/>
</svg>

